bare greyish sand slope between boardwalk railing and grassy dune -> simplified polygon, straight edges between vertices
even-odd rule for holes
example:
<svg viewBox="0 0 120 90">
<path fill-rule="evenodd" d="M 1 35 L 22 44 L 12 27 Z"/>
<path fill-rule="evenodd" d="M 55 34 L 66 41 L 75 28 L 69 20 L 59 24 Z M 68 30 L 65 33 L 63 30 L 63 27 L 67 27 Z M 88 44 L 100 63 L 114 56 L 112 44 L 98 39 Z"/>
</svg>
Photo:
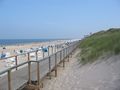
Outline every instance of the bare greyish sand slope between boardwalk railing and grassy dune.
<svg viewBox="0 0 120 90">
<path fill-rule="evenodd" d="M 80 66 L 75 55 L 42 90 L 120 90 L 120 56 Z"/>
</svg>

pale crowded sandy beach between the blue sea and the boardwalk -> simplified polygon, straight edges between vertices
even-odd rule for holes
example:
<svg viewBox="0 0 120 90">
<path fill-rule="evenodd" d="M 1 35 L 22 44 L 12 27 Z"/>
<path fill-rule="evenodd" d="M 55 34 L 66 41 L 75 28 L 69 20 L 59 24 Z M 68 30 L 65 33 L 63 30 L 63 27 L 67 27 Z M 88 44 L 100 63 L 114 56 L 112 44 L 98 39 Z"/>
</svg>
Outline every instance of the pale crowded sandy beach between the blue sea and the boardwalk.
<svg viewBox="0 0 120 90">
<path fill-rule="evenodd" d="M 19 44 L 19 45 L 8 45 L 8 46 L 4 46 L 5 49 L 3 49 L 3 47 L 0 47 L 0 53 L 10 53 L 10 56 L 12 55 L 16 55 L 16 51 L 20 51 L 20 50 L 27 50 L 30 48 L 40 48 L 42 46 L 47 47 L 47 46 L 51 46 L 51 45 L 58 45 L 58 44 L 63 44 L 65 43 L 65 40 L 56 40 L 56 41 L 50 41 L 50 42 L 40 42 L 40 43 L 30 43 L 30 44 Z M 51 51 L 51 50 L 50 50 Z M 55 52 L 54 48 L 53 48 L 53 53 Z M 35 54 L 35 53 L 33 53 Z M 52 52 L 50 53 L 52 54 Z M 48 56 L 48 52 L 44 53 L 44 57 Z M 42 59 L 43 58 L 43 52 L 39 51 L 38 52 L 38 59 Z M 20 55 L 17 57 L 17 61 L 18 64 L 23 63 L 25 61 L 28 60 L 28 56 L 27 55 Z M 35 57 L 30 58 L 31 60 L 35 60 Z M 8 62 L 5 59 L 0 60 L 0 71 L 3 71 L 9 67 L 11 67 L 10 65 L 14 66 L 15 62 Z"/>
</svg>

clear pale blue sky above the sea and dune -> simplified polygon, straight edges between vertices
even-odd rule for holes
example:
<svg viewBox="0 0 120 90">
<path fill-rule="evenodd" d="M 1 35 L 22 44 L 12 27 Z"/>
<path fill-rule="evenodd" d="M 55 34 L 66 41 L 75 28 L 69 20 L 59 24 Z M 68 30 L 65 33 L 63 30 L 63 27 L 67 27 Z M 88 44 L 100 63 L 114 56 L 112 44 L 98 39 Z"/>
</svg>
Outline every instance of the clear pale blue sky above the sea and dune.
<svg viewBox="0 0 120 90">
<path fill-rule="evenodd" d="M 82 38 L 120 27 L 120 0 L 0 0 L 0 39 Z"/>
</svg>

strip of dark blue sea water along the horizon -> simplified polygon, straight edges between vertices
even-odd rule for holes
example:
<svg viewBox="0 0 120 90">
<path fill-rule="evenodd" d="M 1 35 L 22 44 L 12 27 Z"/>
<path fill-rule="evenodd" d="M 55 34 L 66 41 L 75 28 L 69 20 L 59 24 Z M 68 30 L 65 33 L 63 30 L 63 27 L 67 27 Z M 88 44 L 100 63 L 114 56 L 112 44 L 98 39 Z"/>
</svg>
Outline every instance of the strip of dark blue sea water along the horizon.
<svg viewBox="0 0 120 90">
<path fill-rule="evenodd" d="M 57 39 L 0 39 L 0 46 L 48 42 L 48 41 L 54 41 L 54 40 L 57 40 Z"/>
</svg>

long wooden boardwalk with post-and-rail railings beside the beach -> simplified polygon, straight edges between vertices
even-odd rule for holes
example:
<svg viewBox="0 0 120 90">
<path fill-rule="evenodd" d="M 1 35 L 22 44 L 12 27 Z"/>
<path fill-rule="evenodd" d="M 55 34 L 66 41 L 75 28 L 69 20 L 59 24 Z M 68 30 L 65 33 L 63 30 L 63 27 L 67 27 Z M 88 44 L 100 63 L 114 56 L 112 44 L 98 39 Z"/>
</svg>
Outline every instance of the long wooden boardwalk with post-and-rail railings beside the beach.
<svg viewBox="0 0 120 90">
<path fill-rule="evenodd" d="M 68 58 L 69 61 L 69 56 L 72 55 L 78 44 L 79 41 L 72 42 L 69 46 L 43 59 L 38 59 L 38 50 L 33 51 L 36 52 L 36 60 L 30 60 L 31 52 L 27 53 L 28 61 L 21 64 L 17 64 L 16 61 L 15 66 L 0 72 L 0 75 L 4 74 L 0 78 L 0 90 L 18 90 L 32 82 L 37 82 L 37 86 L 40 87 L 41 81 L 46 75 L 51 79 L 51 71 L 54 70 L 55 76 L 57 76 L 59 63 L 63 63 L 63 67 L 65 67 L 65 58 Z M 17 56 L 15 56 L 16 60 Z"/>
</svg>

